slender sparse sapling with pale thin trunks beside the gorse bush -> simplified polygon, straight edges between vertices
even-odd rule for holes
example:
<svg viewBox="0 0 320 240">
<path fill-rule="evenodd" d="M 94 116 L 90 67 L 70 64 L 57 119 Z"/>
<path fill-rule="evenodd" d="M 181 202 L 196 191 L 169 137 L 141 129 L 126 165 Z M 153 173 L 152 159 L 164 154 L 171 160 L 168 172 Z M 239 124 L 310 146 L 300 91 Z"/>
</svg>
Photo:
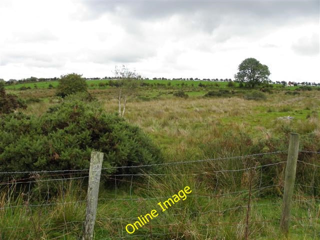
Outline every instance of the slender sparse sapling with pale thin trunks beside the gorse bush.
<svg viewBox="0 0 320 240">
<path fill-rule="evenodd" d="M 119 97 L 118 97 L 118 113 L 119 116 L 123 117 L 125 111 L 125 104 L 127 97 L 130 96 L 136 87 L 139 85 L 139 81 L 141 80 L 141 75 L 138 74 L 135 69 L 130 70 L 125 65 L 121 67 L 115 66 L 114 67 L 114 75 L 120 81 L 120 90 L 119 90 Z M 121 103 L 123 98 L 123 103 Z M 122 109 L 121 109 L 122 105 Z"/>
</svg>

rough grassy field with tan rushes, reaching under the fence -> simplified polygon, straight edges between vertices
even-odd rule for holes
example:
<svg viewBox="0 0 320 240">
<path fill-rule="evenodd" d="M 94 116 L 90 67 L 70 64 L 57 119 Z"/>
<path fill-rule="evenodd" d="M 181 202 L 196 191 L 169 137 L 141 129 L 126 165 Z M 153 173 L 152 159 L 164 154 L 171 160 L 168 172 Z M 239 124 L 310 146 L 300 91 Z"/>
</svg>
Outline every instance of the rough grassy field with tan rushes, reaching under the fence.
<svg viewBox="0 0 320 240">
<path fill-rule="evenodd" d="M 116 113 L 119 88 L 99 88 L 98 82 L 103 81 L 88 81 L 89 92 L 106 112 Z M 208 87 L 199 87 L 197 81 L 145 82 L 163 85 L 136 89 L 127 100 L 124 118 L 151 136 L 168 163 L 286 150 L 291 131 L 300 133 L 300 149 L 320 149 L 319 90 L 299 91 L 299 94 L 291 95 L 286 94 L 288 88 L 282 90 L 274 86 L 270 93 L 264 93 L 265 99 L 247 100 L 245 95 L 251 90 L 229 88 L 227 82 L 213 82 Z M 171 85 L 168 86 L 168 82 Z M 182 82 L 185 82 L 183 86 Z M 25 83 L 6 88 L 28 102 L 27 109 L 23 110 L 26 114 L 41 115 L 61 101 L 54 96 L 54 89 L 47 89 L 49 83 L 57 84 L 38 82 L 34 88 L 34 83 Z M 22 85 L 31 89 L 17 90 Z M 234 90 L 235 93 L 230 96 L 204 96 L 207 91 L 219 88 Z M 173 95 L 180 89 L 189 97 Z M 293 116 L 293 119 L 279 118 L 284 116 Z M 320 165 L 319 154 L 300 153 L 299 157 Z M 161 176 L 109 179 L 100 186 L 95 239 L 126 239 L 126 224 L 155 209 L 160 200 L 172 196 L 186 185 L 190 186 L 192 194 L 161 212 L 128 239 L 243 239 L 249 182 L 253 189 L 249 238 L 285 239 L 279 229 L 285 165 L 254 168 L 250 178 L 248 171 L 232 172 L 285 159 L 286 153 L 276 153 L 172 164 L 161 167 L 161 173 L 165 174 Z M 214 173 L 219 170 L 230 171 Z M 103 175 L 109 177 L 102 171 Z M 295 187 L 289 239 L 320 238 L 320 179 L 317 176 L 320 176 L 319 167 L 298 163 L 296 183 L 312 187 Z M 60 194 L 50 203 L 68 204 L 0 210 L 0 239 L 79 239 L 85 214 L 85 202 L 79 200 L 85 199 L 86 194 L 85 187 L 79 183 L 85 186 L 85 180 L 81 179 L 56 183 Z M 39 184 L 38 189 L 48 191 L 46 185 Z M 45 197 L 38 195 L 34 192 L 30 196 L 35 204 L 47 202 Z M 25 205 L 25 197 L 20 194 L 14 200 L 8 200 L 8 195 L 2 194 L 0 207 Z M 116 199 L 110 199 L 114 197 Z"/>
</svg>

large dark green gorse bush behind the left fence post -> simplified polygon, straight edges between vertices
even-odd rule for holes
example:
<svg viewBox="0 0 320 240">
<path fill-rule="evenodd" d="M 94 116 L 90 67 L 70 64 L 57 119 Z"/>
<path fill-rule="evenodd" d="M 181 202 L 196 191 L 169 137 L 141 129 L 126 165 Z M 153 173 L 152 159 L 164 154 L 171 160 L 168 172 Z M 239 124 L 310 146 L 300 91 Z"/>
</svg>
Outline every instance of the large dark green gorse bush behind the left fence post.
<svg viewBox="0 0 320 240">
<path fill-rule="evenodd" d="M 104 153 L 102 167 L 138 166 L 162 159 L 159 149 L 138 127 L 104 113 L 92 102 L 64 100 L 41 117 L 12 113 L 0 118 L 0 171 L 88 168 L 93 150 Z M 112 168 L 106 172 L 138 170 Z"/>
</svg>

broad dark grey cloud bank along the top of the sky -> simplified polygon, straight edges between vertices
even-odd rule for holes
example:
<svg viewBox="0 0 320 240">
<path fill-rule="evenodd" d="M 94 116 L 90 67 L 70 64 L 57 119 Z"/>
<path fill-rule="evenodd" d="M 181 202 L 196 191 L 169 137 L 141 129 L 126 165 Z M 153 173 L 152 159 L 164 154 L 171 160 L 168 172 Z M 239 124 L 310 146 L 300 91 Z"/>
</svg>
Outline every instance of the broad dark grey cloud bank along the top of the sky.
<svg viewBox="0 0 320 240">
<path fill-rule="evenodd" d="M 143 34 L 142 22 L 159 22 L 179 16 L 188 32 L 214 35 L 224 42 L 236 35 L 256 35 L 300 18 L 318 20 L 319 1 L 82 1 L 87 11 L 83 19 L 107 14 L 115 24 L 132 34 Z M 219 29 L 222 28 L 222 29 Z"/>
</svg>

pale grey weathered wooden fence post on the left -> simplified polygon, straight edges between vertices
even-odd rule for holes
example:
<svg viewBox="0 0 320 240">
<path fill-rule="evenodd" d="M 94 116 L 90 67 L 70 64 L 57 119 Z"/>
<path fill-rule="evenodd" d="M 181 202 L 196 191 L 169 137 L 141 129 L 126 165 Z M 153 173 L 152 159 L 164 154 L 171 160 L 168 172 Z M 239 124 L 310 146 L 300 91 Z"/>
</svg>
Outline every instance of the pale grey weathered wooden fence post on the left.
<svg viewBox="0 0 320 240">
<path fill-rule="evenodd" d="M 93 239 L 93 228 L 96 215 L 96 206 L 99 193 L 99 183 L 101 175 L 101 166 L 103 152 L 92 151 L 89 169 L 89 183 L 86 199 L 86 212 L 84 221 L 84 231 L 82 240 Z"/>
</svg>

